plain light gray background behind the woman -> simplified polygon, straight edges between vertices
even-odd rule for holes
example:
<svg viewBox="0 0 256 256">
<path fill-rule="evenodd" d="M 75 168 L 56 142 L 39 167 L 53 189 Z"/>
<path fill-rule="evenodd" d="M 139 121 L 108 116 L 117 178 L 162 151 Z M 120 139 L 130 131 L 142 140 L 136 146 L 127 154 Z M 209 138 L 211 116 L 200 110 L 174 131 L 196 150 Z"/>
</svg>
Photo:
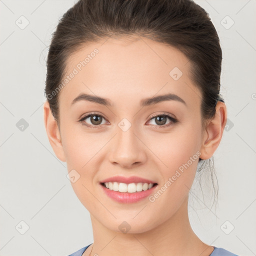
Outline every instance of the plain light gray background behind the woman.
<svg viewBox="0 0 256 256">
<path fill-rule="evenodd" d="M 194 182 L 189 219 L 204 242 L 240 256 L 256 255 L 256 0 L 195 2 L 210 14 L 220 37 L 228 126 L 214 154 L 216 209 L 207 199 L 204 204 Z M 43 124 L 48 45 L 73 3 L 0 0 L 0 255 L 64 256 L 93 241 L 89 213 Z"/>
</svg>

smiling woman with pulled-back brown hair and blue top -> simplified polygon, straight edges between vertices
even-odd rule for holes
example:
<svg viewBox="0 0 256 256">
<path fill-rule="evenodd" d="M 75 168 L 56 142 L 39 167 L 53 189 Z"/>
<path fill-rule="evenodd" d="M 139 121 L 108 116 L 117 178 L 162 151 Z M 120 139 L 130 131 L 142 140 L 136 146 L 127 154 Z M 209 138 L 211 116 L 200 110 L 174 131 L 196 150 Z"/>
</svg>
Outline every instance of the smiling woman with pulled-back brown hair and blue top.
<svg viewBox="0 0 256 256">
<path fill-rule="evenodd" d="M 191 0 L 79 0 L 63 15 L 44 124 L 94 240 L 71 255 L 235 255 L 202 242 L 187 212 L 226 123 L 221 60 Z"/>
</svg>

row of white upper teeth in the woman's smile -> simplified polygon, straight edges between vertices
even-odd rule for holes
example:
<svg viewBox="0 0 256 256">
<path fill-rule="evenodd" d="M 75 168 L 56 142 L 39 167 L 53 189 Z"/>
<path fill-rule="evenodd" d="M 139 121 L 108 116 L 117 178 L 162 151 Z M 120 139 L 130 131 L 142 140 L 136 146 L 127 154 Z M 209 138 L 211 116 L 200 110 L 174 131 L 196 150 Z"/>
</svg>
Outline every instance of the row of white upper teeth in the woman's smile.
<svg viewBox="0 0 256 256">
<path fill-rule="evenodd" d="M 119 192 L 128 192 L 128 193 L 134 193 L 134 192 L 140 192 L 142 190 L 150 189 L 153 186 L 153 183 L 119 183 L 119 182 L 105 182 L 105 187 Z"/>
</svg>

